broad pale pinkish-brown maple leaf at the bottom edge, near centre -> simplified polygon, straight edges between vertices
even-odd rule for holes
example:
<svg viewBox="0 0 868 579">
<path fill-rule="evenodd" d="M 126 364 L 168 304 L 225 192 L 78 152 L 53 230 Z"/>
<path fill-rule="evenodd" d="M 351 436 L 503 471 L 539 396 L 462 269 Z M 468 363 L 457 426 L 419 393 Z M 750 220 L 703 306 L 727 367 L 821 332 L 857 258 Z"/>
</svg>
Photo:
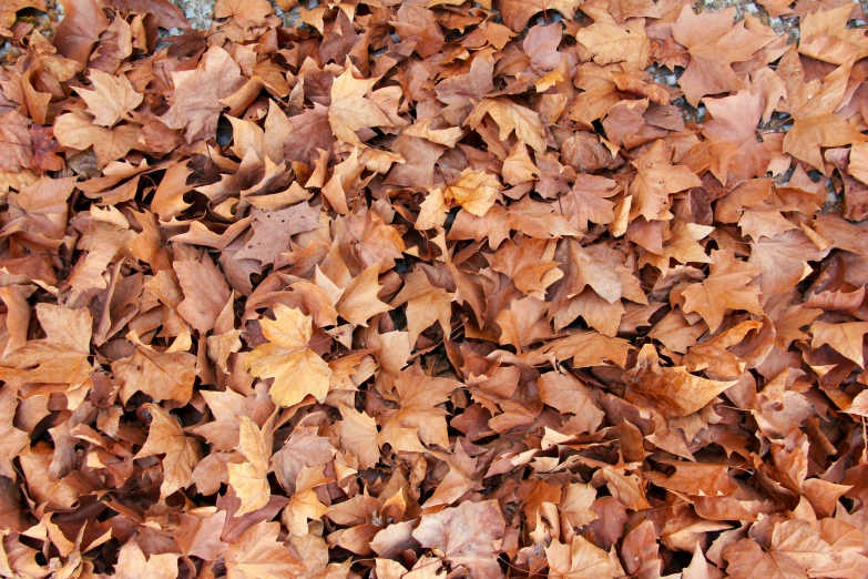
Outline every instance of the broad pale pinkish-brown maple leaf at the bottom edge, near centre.
<svg viewBox="0 0 868 579">
<path fill-rule="evenodd" d="M 501 576 L 494 541 L 503 537 L 504 527 L 497 500 L 462 502 L 422 516 L 412 537 L 452 565 L 466 567 L 474 579 L 494 579 Z"/>
</svg>

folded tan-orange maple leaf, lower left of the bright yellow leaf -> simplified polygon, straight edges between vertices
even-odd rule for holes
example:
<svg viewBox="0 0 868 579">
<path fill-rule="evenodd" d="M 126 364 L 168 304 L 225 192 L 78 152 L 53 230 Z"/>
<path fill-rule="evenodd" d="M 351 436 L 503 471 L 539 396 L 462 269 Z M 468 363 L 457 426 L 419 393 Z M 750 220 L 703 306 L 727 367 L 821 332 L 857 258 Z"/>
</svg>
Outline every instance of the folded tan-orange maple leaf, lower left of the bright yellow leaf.
<svg viewBox="0 0 868 579">
<path fill-rule="evenodd" d="M 144 406 L 151 414 L 151 428 L 147 440 L 135 457 L 165 455 L 160 497 L 166 498 L 175 490 L 190 486 L 193 467 L 202 460 L 202 448 L 184 434 L 177 419 L 164 408 L 157 404 Z"/>
</svg>

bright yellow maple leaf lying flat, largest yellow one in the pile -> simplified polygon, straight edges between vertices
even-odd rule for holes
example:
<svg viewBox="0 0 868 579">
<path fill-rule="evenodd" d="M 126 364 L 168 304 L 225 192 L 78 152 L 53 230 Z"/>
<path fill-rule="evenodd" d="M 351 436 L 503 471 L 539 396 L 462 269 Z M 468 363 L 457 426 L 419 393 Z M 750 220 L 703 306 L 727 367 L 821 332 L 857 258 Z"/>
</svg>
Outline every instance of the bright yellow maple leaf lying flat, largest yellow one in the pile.
<svg viewBox="0 0 868 579">
<path fill-rule="evenodd" d="M 274 307 L 274 317 L 259 322 L 268 343 L 247 355 L 245 368 L 258 378 L 274 378 L 269 393 L 278 406 L 298 404 L 308 394 L 324 400 L 331 369 L 308 345 L 314 335 L 313 318 L 283 304 Z"/>
</svg>

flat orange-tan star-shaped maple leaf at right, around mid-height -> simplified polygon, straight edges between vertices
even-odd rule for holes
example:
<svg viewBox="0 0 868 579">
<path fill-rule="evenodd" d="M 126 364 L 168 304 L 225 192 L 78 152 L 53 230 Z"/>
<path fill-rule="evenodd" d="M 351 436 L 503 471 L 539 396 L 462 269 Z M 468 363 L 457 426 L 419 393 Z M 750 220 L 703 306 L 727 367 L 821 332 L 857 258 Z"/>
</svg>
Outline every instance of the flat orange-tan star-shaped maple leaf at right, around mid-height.
<svg viewBox="0 0 868 579">
<path fill-rule="evenodd" d="M 754 280 L 763 271 L 735 258 L 732 252 L 715 250 L 708 277 L 684 291 L 684 311 L 697 312 L 715 332 L 727 309 L 762 314 L 759 285 Z"/>
</svg>

